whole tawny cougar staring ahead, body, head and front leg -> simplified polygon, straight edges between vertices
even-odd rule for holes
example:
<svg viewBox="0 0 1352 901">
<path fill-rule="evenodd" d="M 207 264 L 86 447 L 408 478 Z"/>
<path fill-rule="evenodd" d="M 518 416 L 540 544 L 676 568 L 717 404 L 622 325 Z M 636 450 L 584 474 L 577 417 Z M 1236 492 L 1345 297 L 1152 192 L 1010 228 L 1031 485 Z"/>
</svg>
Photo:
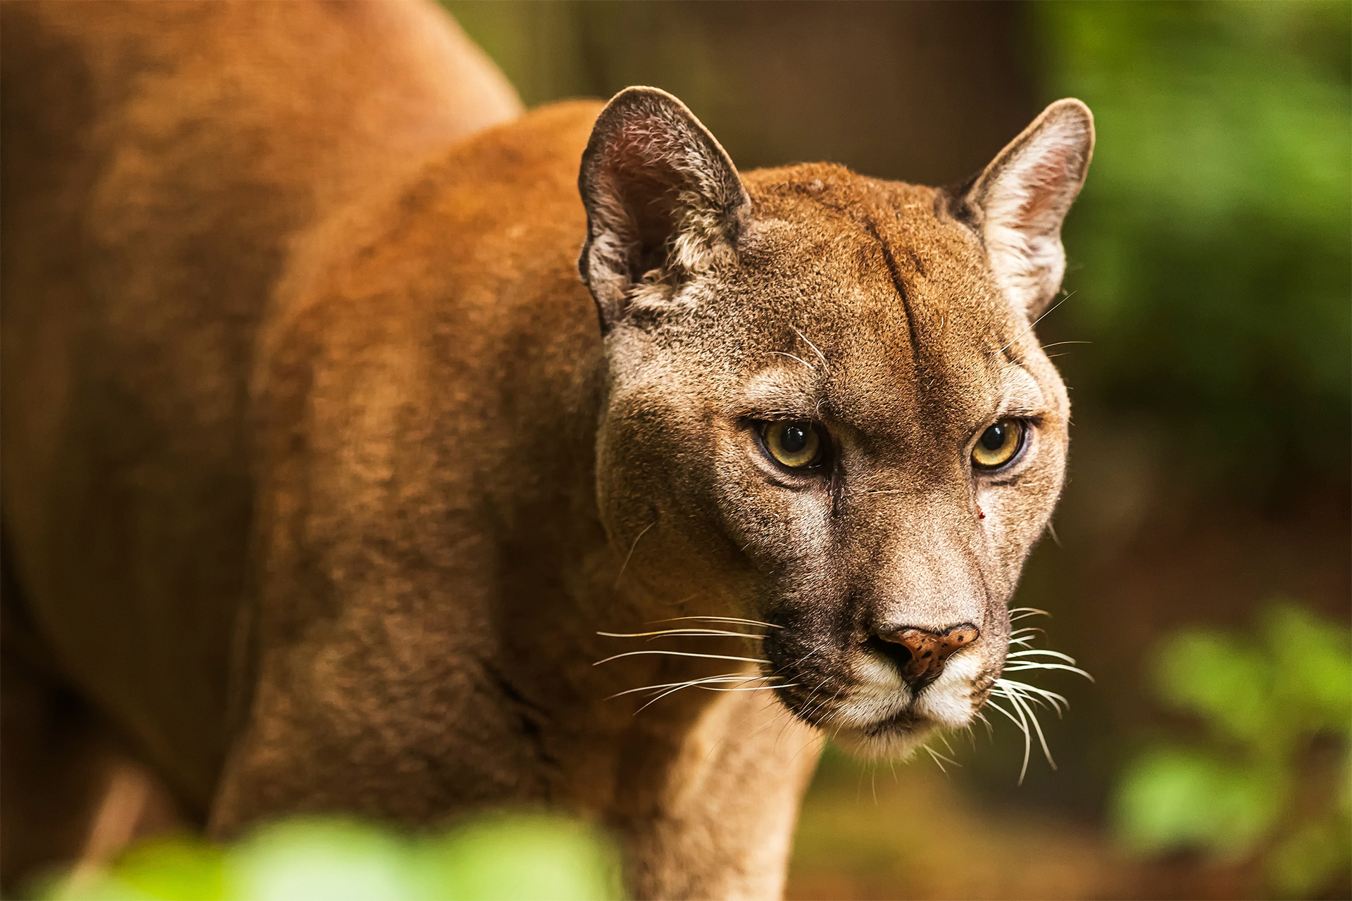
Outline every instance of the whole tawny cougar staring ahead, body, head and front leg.
<svg viewBox="0 0 1352 901">
<path fill-rule="evenodd" d="M 740 173 L 654 88 L 521 113 L 431 5 L 3 34 L 11 874 L 97 796 L 54 698 L 211 835 L 544 805 L 644 898 L 780 894 L 823 736 L 987 701 L 1082 103 L 936 189 Z"/>
</svg>

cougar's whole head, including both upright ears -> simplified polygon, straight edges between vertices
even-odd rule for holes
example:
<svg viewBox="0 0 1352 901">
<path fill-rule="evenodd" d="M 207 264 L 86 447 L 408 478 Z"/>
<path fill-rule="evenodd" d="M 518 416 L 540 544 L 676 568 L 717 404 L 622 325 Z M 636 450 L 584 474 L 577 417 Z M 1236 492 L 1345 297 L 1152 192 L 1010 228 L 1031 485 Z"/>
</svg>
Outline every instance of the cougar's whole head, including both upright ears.
<svg viewBox="0 0 1352 901">
<path fill-rule="evenodd" d="M 1092 140 L 1061 100 L 940 190 L 830 165 L 742 177 L 650 88 L 596 122 L 580 269 L 626 578 L 672 611 L 771 624 L 763 675 L 856 750 L 968 723 L 1005 665 L 1067 455 L 1033 324 Z"/>
</svg>

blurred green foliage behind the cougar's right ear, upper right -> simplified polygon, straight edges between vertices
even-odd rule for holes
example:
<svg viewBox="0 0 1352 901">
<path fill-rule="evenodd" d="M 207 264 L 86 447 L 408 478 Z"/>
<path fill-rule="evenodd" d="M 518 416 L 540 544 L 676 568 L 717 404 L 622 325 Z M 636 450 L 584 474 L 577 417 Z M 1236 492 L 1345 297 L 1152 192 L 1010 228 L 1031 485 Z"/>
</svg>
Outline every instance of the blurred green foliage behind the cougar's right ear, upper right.
<svg viewBox="0 0 1352 901">
<path fill-rule="evenodd" d="M 1076 397 L 1169 427 L 1197 477 L 1345 481 L 1352 4 L 1046 3 L 1048 97 L 1094 109 L 1055 313 Z"/>
</svg>

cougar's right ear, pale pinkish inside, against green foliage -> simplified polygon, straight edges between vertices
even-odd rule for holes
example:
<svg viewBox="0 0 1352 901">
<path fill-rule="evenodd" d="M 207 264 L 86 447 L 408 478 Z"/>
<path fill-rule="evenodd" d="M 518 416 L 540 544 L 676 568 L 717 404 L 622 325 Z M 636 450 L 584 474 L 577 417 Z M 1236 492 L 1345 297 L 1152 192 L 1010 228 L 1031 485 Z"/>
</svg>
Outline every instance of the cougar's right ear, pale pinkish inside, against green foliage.
<svg viewBox="0 0 1352 901">
<path fill-rule="evenodd" d="M 1057 100 L 995 157 L 963 196 L 1000 288 L 1030 319 L 1065 274 L 1061 220 L 1094 154 L 1094 113 Z"/>
</svg>

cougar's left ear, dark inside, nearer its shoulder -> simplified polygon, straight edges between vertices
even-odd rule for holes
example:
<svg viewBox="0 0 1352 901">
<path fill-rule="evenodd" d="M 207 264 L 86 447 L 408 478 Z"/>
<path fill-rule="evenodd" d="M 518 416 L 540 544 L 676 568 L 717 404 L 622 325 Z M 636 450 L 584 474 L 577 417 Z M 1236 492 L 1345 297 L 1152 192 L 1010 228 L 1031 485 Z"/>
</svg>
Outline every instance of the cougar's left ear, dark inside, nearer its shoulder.
<svg viewBox="0 0 1352 901">
<path fill-rule="evenodd" d="M 577 188 L 587 208 L 577 269 L 603 331 L 731 253 L 750 205 L 714 135 L 657 88 L 626 88 L 606 104 Z"/>
</svg>

